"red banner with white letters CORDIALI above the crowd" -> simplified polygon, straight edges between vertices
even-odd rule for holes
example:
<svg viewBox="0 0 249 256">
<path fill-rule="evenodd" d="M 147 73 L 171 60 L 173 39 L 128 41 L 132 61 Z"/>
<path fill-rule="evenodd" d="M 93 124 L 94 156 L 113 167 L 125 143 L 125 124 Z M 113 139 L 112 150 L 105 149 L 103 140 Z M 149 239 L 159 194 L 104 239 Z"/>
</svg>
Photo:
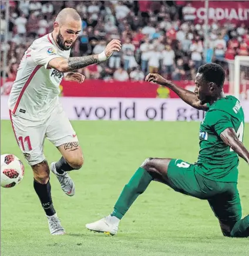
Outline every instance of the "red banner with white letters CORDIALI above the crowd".
<svg viewBox="0 0 249 256">
<path fill-rule="evenodd" d="M 191 1 L 196 22 L 206 19 L 204 1 Z M 249 1 L 208 1 L 208 16 L 211 21 L 218 23 L 232 22 L 249 25 Z"/>
</svg>

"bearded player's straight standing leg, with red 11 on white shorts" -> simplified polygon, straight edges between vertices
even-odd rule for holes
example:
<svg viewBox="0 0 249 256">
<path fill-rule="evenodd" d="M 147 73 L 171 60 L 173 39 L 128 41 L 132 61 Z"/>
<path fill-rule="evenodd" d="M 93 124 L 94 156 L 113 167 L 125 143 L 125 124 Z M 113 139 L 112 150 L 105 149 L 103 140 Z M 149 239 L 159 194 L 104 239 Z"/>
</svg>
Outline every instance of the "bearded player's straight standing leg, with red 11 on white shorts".
<svg viewBox="0 0 249 256">
<path fill-rule="evenodd" d="M 11 122 L 18 145 L 33 169 L 33 187 L 48 218 L 49 230 L 53 235 L 65 234 L 53 207 L 49 167 L 43 154 L 46 126 L 12 114 Z"/>
</svg>

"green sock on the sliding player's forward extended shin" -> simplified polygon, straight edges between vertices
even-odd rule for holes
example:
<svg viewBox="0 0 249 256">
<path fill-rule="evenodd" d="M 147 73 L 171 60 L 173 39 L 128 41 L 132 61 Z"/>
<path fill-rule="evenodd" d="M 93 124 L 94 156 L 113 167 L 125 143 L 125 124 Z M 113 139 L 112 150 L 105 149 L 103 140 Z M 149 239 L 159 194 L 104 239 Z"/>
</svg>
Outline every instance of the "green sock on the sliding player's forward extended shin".
<svg viewBox="0 0 249 256">
<path fill-rule="evenodd" d="M 111 215 L 121 220 L 136 198 L 149 186 L 152 179 L 152 176 L 145 169 L 138 168 L 128 184 L 124 186 Z"/>
</svg>

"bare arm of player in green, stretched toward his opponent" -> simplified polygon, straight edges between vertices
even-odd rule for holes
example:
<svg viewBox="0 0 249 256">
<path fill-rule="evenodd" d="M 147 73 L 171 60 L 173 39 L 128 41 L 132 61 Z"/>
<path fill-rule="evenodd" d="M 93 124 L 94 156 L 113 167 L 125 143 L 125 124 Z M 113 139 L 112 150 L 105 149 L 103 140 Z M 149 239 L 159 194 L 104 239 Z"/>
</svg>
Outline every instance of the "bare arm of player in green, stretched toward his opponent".
<svg viewBox="0 0 249 256">
<path fill-rule="evenodd" d="M 173 82 L 161 77 L 159 74 L 149 74 L 145 78 L 145 81 L 147 82 L 156 82 L 157 84 L 163 85 L 164 87 L 168 87 L 172 91 L 176 92 L 176 94 L 187 104 L 189 104 L 193 108 L 201 109 L 204 111 L 208 110 L 208 107 L 206 104 L 201 104 L 200 100 L 196 97 L 196 94 L 194 92 L 188 91 L 184 88 L 181 88 Z"/>
</svg>

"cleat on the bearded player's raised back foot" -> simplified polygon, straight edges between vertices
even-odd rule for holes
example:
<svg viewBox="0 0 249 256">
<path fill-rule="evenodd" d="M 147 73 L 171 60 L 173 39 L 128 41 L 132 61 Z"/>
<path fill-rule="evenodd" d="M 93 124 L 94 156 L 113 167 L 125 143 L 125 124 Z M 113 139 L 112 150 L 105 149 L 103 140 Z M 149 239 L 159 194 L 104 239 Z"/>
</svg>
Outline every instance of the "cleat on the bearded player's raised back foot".
<svg viewBox="0 0 249 256">
<path fill-rule="evenodd" d="M 65 192 L 65 194 L 69 195 L 69 197 L 72 197 L 75 194 L 75 184 L 72 178 L 70 178 L 68 172 L 58 174 L 58 172 L 56 172 L 55 162 L 52 162 L 50 169 L 53 174 L 55 174 L 55 176 L 58 178 L 60 186 L 62 187 L 62 190 Z"/>
</svg>

